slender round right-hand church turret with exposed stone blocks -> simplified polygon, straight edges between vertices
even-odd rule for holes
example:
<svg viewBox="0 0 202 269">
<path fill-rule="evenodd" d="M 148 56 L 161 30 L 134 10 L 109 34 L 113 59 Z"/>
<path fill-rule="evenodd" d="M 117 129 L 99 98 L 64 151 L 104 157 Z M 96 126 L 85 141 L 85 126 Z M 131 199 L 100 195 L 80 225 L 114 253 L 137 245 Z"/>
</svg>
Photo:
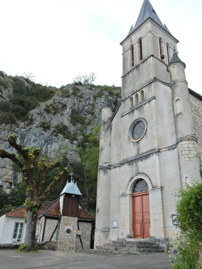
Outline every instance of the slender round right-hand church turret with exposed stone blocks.
<svg viewBox="0 0 202 269">
<path fill-rule="evenodd" d="M 194 131 L 188 83 L 184 71 L 185 67 L 185 63 L 179 59 L 174 49 L 167 71 L 170 73 L 171 80 L 181 184 L 188 183 L 194 178 L 197 180 L 201 179 L 197 138 Z"/>
</svg>

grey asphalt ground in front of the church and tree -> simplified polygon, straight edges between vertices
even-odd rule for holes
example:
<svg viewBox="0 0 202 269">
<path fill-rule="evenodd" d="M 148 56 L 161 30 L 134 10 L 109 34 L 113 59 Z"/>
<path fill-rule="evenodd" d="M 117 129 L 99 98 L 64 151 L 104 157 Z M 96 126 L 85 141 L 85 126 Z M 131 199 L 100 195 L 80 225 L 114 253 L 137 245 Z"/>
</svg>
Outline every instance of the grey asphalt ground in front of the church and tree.
<svg viewBox="0 0 202 269">
<path fill-rule="evenodd" d="M 91 252 L 14 253 L 0 250 L 0 269 L 168 269 L 168 254 L 115 255 Z"/>
</svg>

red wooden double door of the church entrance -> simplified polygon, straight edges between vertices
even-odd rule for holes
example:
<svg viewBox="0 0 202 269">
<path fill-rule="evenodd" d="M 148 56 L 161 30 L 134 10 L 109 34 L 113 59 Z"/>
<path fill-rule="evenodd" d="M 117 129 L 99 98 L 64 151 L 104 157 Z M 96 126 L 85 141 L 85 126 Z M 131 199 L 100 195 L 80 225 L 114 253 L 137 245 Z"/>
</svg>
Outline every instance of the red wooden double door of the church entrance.
<svg viewBox="0 0 202 269">
<path fill-rule="evenodd" d="M 150 238 L 148 191 L 132 193 L 133 238 Z"/>
</svg>

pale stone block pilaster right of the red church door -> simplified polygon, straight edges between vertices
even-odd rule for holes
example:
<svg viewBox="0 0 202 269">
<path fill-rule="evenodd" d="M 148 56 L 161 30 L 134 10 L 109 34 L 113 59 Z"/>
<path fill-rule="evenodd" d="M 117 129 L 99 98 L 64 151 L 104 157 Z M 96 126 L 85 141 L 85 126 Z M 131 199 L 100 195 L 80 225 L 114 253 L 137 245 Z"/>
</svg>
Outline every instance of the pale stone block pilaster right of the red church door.
<svg viewBox="0 0 202 269">
<path fill-rule="evenodd" d="M 164 238 L 163 187 L 149 190 L 150 238 Z"/>
</svg>

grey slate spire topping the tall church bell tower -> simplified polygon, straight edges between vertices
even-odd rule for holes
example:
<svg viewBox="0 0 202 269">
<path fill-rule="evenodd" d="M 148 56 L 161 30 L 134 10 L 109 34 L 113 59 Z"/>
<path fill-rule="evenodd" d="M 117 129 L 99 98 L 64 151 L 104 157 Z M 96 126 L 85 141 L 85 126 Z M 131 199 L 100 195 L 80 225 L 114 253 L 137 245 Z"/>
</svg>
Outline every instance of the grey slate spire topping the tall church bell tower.
<svg viewBox="0 0 202 269">
<path fill-rule="evenodd" d="M 140 13 L 139 13 L 139 16 L 138 16 L 137 21 L 135 23 L 135 26 L 133 29 L 132 29 L 132 27 L 130 28 L 128 35 L 130 35 L 133 31 L 135 31 L 148 18 L 152 18 L 152 20 L 154 20 L 156 23 L 158 23 L 158 25 L 160 25 L 163 29 L 165 29 L 167 32 L 170 33 L 167 26 L 162 24 L 160 18 L 156 14 L 156 12 L 155 12 L 154 8 L 152 7 L 151 3 L 149 2 L 149 0 L 144 0 L 142 7 L 141 7 L 141 10 L 140 10 Z"/>
</svg>

